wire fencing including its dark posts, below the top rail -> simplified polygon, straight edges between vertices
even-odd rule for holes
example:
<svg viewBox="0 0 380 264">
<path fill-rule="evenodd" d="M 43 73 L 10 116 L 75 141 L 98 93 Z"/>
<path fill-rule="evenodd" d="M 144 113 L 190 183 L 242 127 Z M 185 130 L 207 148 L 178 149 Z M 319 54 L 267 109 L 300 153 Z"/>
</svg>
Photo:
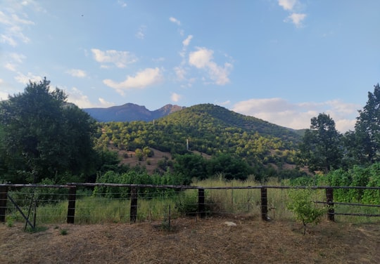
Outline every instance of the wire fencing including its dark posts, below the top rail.
<svg viewBox="0 0 380 264">
<path fill-rule="evenodd" d="M 288 209 L 289 190 L 305 188 L 303 186 L 196 187 L 80 183 L 61 186 L 1 185 L 0 187 L 0 221 L 12 223 L 27 218 L 37 223 L 53 224 L 74 223 L 74 221 L 77 224 L 165 221 L 168 218 L 181 216 L 289 219 L 293 218 L 293 213 Z M 72 190 L 75 191 L 71 194 L 73 195 L 71 197 L 75 197 L 74 201 L 70 198 Z M 312 201 L 319 206 L 328 206 L 326 194 L 326 187 L 315 187 L 312 191 Z M 72 202 L 74 203 L 70 205 Z M 136 204 L 133 204 L 134 202 Z M 358 218 L 362 220 L 362 216 L 380 216 L 379 205 L 363 207 L 362 204 L 348 206 L 349 203 L 334 202 L 336 204 L 332 213 L 336 216 L 336 220 L 357 221 Z M 72 222 L 69 219 L 72 219 Z M 366 220 L 368 221 L 368 218 Z"/>
</svg>

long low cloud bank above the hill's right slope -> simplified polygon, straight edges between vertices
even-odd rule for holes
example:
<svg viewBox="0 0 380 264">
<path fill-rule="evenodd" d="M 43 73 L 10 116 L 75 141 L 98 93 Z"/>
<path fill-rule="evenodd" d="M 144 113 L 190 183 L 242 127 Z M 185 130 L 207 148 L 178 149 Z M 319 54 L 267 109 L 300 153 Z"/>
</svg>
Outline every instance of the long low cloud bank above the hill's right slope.
<svg viewBox="0 0 380 264">
<path fill-rule="evenodd" d="M 338 131 L 345 132 L 353 130 L 359 107 L 341 100 L 289 103 L 281 98 L 265 98 L 241 101 L 232 110 L 294 129 L 310 128 L 310 119 L 324 112 L 334 119 Z"/>
</svg>

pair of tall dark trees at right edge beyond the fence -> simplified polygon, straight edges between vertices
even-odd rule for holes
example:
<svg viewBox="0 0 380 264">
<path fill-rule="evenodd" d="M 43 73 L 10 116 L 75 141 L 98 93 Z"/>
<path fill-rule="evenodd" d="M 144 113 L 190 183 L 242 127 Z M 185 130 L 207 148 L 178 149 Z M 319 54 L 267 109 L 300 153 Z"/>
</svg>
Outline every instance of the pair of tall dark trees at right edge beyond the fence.
<svg viewBox="0 0 380 264">
<path fill-rule="evenodd" d="M 334 120 L 321 113 L 311 119 L 300 143 L 298 163 L 311 171 L 369 166 L 380 162 L 380 86 L 368 93 L 365 107 L 358 111 L 354 131 L 338 133 Z"/>
</svg>

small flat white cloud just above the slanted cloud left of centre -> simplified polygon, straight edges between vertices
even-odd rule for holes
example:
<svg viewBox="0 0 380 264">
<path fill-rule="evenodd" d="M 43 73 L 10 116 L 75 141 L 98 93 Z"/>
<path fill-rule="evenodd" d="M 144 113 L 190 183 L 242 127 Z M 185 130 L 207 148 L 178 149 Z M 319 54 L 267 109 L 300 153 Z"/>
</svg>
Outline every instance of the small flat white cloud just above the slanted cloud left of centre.
<svg viewBox="0 0 380 264">
<path fill-rule="evenodd" d="M 118 68 L 124 68 L 127 64 L 137 62 L 137 58 L 128 51 L 101 51 L 97 48 L 91 48 L 94 59 L 101 63 L 111 63 Z M 101 67 L 109 67 L 109 65 L 102 65 Z"/>
</svg>

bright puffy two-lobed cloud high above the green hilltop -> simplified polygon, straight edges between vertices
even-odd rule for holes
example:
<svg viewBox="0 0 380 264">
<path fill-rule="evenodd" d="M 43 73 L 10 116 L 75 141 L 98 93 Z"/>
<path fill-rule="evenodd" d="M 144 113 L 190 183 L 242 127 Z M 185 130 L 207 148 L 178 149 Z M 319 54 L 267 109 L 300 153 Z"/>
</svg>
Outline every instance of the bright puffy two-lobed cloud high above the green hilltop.
<svg viewBox="0 0 380 264">
<path fill-rule="evenodd" d="M 197 67 L 198 69 L 203 69 L 208 72 L 210 79 L 215 81 L 218 85 L 224 85 L 229 83 L 229 73 L 232 70 L 231 63 L 224 63 L 223 66 L 217 65 L 213 61 L 213 53 L 207 48 L 197 48 L 197 51 L 191 52 L 189 54 L 189 64 Z"/>
</svg>

